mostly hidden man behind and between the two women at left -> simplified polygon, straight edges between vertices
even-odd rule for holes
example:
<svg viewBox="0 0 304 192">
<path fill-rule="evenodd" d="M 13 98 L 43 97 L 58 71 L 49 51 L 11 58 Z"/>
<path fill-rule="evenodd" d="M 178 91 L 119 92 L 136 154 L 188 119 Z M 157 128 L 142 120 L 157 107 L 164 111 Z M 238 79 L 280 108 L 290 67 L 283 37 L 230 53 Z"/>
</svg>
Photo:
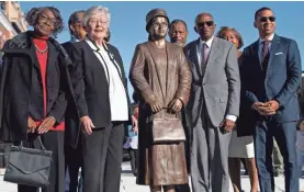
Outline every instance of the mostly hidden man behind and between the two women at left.
<svg viewBox="0 0 304 192">
<path fill-rule="evenodd" d="M 82 18 L 85 10 L 76 11 L 69 16 L 68 26 L 70 32 L 70 41 L 63 44 L 63 47 L 69 53 L 72 43 L 85 39 L 86 32 L 82 27 Z M 71 127 L 67 126 L 66 132 L 71 132 Z M 65 157 L 66 157 L 66 192 L 82 192 L 82 178 L 78 181 L 79 168 L 81 168 L 81 177 L 83 177 L 83 159 L 82 144 L 78 142 L 76 148 L 69 145 L 68 135 L 65 135 Z M 81 138 L 80 138 L 81 139 Z"/>
</svg>

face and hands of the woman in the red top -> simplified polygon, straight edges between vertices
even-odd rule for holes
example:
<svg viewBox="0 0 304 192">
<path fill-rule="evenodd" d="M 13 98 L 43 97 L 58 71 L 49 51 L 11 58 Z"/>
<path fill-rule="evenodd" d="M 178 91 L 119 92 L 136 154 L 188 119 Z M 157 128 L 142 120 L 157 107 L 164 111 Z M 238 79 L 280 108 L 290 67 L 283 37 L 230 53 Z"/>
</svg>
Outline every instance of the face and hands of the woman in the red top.
<svg viewBox="0 0 304 192">
<path fill-rule="evenodd" d="M 52 11 L 45 9 L 38 15 L 36 23 L 34 24 L 34 36 L 37 37 L 48 37 L 53 34 L 55 30 L 55 24 L 57 20 Z M 44 134 L 49 131 L 56 123 L 56 120 L 53 116 L 45 117 L 42 123 L 36 127 L 35 122 L 32 117 L 29 117 L 27 128 L 29 133 Z"/>
</svg>

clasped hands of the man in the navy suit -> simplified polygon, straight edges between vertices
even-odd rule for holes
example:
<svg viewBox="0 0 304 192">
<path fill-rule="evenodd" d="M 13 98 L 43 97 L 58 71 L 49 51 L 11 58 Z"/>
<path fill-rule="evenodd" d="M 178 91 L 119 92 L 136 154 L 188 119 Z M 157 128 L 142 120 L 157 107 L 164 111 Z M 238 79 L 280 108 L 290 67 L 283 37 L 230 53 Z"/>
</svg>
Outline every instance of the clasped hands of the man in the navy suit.
<svg viewBox="0 0 304 192">
<path fill-rule="evenodd" d="M 274 115 L 280 104 L 275 100 L 268 101 L 266 103 L 255 102 L 252 109 L 256 110 L 262 116 Z"/>
</svg>

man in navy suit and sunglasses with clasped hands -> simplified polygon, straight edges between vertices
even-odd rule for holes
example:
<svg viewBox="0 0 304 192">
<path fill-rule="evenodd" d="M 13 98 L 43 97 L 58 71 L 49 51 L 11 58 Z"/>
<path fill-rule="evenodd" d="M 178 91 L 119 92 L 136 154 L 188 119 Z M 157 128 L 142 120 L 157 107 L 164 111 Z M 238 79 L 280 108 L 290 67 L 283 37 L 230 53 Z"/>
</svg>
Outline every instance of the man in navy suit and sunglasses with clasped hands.
<svg viewBox="0 0 304 192">
<path fill-rule="evenodd" d="M 274 33 L 270 8 L 255 14 L 259 39 L 244 49 L 240 66 L 241 95 L 247 105 L 246 122 L 255 132 L 255 150 L 261 192 L 273 192 L 273 137 L 284 159 L 285 191 L 299 192 L 296 121 L 300 118 L 296 90 L 301 82 L 301 58 L 295 41 Z M 243 118 L 243 117 L 240 117 Z"/>
</svg>

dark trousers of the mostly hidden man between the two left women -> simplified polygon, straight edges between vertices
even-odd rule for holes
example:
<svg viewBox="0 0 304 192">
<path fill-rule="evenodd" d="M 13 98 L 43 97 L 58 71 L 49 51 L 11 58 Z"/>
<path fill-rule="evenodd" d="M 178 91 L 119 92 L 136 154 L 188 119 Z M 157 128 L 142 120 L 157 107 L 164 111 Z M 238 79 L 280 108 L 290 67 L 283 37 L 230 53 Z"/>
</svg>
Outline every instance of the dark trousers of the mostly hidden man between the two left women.
<svg viewBox="0 0 304 192">
<path fill-rule="evenodd" d="M 81 138 L 80 138 L 81 139 Z M 66 192 L 82 192 L 82 182 L 78 182 L 79 168 L 83 177 L 83 155 L 82 142 L 78 143 L 77 148 L 67 145 L 65 147 L 66 156 Z"/>
</svg>

